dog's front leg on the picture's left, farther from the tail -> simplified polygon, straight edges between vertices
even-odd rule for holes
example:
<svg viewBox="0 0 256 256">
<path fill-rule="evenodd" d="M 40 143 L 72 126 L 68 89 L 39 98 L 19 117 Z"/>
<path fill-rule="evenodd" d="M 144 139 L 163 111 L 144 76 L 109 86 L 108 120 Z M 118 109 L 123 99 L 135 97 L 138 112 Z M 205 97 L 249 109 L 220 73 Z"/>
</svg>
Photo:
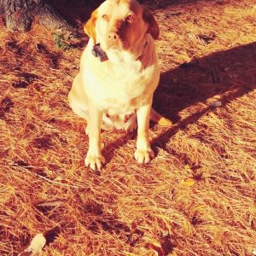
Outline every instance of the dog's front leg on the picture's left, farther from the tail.
<svg viewBox="0 0 256 256">
<path fill-rule="evenodd" d="M 106 163 L 102 156 L 101 146 L 101 125 L 102 125 L 102 111 L 99 110 L 92 102 L 88 102 L 89 116 L 88 116 L 88 136 L 89 149 L 85 157 L 85 166 L 90 166 L 93 171 L 101 170 L 102 165 Z"/>
</svg>

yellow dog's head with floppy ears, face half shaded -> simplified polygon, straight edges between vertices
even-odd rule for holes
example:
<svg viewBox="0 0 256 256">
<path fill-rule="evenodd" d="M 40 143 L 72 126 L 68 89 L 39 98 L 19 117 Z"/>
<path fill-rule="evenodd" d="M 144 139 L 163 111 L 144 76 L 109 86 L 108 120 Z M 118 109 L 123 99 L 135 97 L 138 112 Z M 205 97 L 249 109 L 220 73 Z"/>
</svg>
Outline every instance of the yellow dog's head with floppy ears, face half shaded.
<svg viewBox="0 0 256 256">
<path fill-rule="evenodd" d="M 135 0 L 107 0 L 92 13 L 84 32 L 106 51 L 129 50 L 146 33 L 157 39 L 159 26 L 151 11 Z"/>
</svg>

